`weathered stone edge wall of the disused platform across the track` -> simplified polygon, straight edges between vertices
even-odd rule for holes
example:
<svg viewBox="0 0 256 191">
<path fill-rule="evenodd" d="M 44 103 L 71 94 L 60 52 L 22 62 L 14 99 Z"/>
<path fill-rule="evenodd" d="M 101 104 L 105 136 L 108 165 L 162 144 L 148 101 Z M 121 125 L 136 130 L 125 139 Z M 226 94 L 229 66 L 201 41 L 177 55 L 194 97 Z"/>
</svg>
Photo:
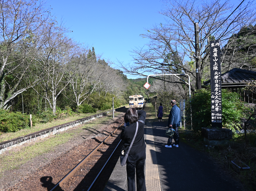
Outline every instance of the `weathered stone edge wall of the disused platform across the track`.
<svg viewBox="0 0 256 191">
<path fill-rule="evenodd" d="M 123 107 L 119 107 L 116 110 L 121 109 L 121 108 L 123 108 Z M 72 122 L 69 122 L 69 123 L 65 123 L 63 125 L 57 125 L 55 127 L 51 127 L 51 128 L 48 128 L 48 129 L 43 129 L 41 131 L 26 134 L 25 136 L 20 136 L 18 138 L 13 138 L 13 139 L 8 140 L 8 141 L 0 142 L 0 154 L 2 154 L 3 152 L 5 152 L 7 150 L 10 150 L 10 149 L 12 149 L 16 146 L 20 146 L 20 145 L 22 145 L 26 142 L 35 141 L 38 138 L 45 138 L 46 136 L 49 136 L 51 134 L 55 134 L 55 133 L 58 133 L 58 132 L 61 132 L 61 131 L 65 131 L 65 130 L 71 128 L 71 127 L 81 125 L 83 123 L 86 123 L 87 121 L 93 120 L 93 119 L 101 117 L 103 115 L 106 115 L 107 113 L 112 113 L 112 110 L 109 110 L 109 111 L 106 111 L 106 112 L 103 112 L 103 113 L 99 113 L 99 114 L 96 114 L 96 115 L 92 115 L 90 117 L 85 117 L 83 119 L 79 119 L 79 120 L 72 121 Z"/>
</svg>

